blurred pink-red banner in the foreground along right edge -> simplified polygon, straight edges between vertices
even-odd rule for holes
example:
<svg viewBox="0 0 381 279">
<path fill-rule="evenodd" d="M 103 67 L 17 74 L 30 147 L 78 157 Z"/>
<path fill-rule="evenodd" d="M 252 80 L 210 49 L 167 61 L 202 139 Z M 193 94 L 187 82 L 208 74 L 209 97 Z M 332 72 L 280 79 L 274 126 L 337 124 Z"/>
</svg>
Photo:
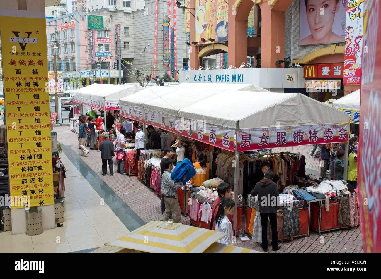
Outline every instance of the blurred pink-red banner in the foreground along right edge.
<svg viewBox="0 0 381 279">
<path fill-rule="evenodd" d="M 357 200 L 365 253 L 381 252 L 381 13 L 380 2 L 364 8 L 360 140 L 357 152 Z M 365 46 L 367 51 L 365 51 Z M 360 158 L 360 159 L 359 159 Z M 373 166 L 373 167 L 370 167 Z"/>
</svg>

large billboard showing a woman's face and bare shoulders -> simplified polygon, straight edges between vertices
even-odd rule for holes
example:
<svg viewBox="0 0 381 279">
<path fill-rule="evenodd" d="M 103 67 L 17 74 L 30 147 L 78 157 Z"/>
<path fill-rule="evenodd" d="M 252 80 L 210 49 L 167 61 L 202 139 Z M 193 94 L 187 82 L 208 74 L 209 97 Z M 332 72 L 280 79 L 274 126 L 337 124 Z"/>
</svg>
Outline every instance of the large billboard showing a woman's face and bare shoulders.
<svg viewBox="0 0 381 279">
<path fill-rule="evenodd" d="M 345 0 L 300 0 L 299 46 L 344 41 Z"/>
</svg>

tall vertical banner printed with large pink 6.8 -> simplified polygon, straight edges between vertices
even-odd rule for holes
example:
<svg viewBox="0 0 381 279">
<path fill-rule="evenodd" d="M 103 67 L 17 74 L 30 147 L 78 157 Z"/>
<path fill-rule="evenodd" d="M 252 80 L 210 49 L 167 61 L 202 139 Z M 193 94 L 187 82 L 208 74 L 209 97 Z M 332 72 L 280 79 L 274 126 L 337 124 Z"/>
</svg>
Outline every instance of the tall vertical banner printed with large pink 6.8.
<svg viewBox="0 0 381 279">
<path fill-rule="evenodd" d="M 364 0 L 347 0 L 343 84 L 361 84 Z"/>
</svg>

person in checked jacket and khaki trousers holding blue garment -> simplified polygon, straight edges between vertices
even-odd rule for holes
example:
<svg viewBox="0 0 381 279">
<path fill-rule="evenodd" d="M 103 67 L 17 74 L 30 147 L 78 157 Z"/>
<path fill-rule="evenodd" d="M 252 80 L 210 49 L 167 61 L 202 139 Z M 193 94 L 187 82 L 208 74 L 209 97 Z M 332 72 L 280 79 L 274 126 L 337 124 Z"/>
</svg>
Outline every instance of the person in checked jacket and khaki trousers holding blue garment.
<svg viewBox="0 0 381 279">
<path fill-rule="evenodd" d="M 179 223 L 181 220 L 181 209 L 179 201 L 177 200 L 177 188 L 182 186 L 181 181 L 176 182 L 171 178 L 171 172 L 173 169 L 173 160 L 170 158 L 165 159 L 164 161 L 164 172 L 162 175 L 162 194 L 165 202 L 165 211 L 162 215 L 160 221 L 167 221 L 172 213 L 173 222 Z M 185 181 L 186 175 L 182 178 L 182 181 Z"/>
</svg>

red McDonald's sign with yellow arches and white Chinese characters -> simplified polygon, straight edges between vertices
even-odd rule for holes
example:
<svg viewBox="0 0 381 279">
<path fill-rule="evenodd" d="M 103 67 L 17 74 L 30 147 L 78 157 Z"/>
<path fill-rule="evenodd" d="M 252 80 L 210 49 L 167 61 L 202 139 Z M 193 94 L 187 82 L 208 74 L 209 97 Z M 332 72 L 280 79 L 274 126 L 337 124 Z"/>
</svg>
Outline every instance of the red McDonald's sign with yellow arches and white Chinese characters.
<svg viewBox="0 0 381 279">
<path fill-rule="evenodd" d="M 304 65 L 304 78 L 343 78 L 343 63 Z"/>
</svg>

